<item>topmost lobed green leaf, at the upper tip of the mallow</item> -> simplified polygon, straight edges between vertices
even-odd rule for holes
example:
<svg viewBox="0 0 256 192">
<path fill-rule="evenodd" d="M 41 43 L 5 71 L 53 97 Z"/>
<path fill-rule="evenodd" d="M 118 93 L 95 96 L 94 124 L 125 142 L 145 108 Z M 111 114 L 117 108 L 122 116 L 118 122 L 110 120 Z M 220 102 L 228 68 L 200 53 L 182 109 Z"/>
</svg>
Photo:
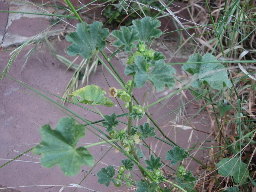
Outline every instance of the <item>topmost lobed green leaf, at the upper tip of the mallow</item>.
<svg viewBox="0 0 256 192">
<path fill-rule="evenodd" d="M 161 36 L 162 31 L 157 29 L 161 26 L 158 20 L 152 20 L 151 17 L 144 17 L 143 19 L 133 20 L 133 29 L 138 31 L 141 41 L 151 41 L 152 37 L 158 38 Z"/>
</svg>

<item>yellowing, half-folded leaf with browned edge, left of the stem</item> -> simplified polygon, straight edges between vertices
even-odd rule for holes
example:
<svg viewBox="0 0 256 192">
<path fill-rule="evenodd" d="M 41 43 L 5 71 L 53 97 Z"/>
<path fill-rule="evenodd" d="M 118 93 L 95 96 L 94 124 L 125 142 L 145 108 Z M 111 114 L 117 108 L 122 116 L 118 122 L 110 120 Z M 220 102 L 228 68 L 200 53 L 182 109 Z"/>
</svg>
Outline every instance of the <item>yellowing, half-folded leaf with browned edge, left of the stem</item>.
<svg viewBox="0 0 256 192">
<path fill-rule="evenodd" d="M 115 104 L 107 97 L 104 97 L 106 91 L 97 85 L 87 85 L 81 89 L 75 90 L 69 96 L 75 103 L 87 105 L 105 105 L 112 107 Z"/>
</svg>

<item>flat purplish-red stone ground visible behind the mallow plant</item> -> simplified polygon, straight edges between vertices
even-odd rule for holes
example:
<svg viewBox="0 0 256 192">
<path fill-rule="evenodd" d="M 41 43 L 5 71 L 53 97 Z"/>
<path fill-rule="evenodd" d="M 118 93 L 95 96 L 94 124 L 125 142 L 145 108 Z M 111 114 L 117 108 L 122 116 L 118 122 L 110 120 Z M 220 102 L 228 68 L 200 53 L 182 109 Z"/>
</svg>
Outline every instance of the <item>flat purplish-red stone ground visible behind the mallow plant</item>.
<svg viewBox="0 0 256 192">
<path fill-rule="evenodd" d="M 7 2 L 0 2 L 0 9 L 6 9 Z M 14 6 L 14 5 L 13 5 Z M 16 6 L 16 5 L 15 5 Z M 10 7 L 9 7 L 10 8 Z M 9 15 L 10 16 L 10 15 Z M 20 17 L 16 19 L 15 22 L 12 22 L 8 26 L 8 30 L 6 30 L 6 24 L 8 21 L 8 14 L 0 13 L 0 32 L 3 36 L 9 39 L 20 38 L 20 36 L 31 38 L 31 34 L 35 35 L 40 32 L 45 27 L 49 26 L 49 20 L 47 18 L 28 18 L 28 17 Z M 3 18 L 3 19 L 2 19 Z M 7 22 L 7 23 L 6 23 Z M 29 30 L 32 24 L 34 31 Z M 37 25 L 38 27 L 34 27 Z M 4 27 L 5 26 L 5 27 Z M 57 29 L 57 28 L 56 28 Z M 37 31 L 38 30 L 38 31 Z M 53 46 L 59 51 L 62 52 L 63 55 L 66 47 L 69 45 L 65 40 L 58 41 L 57 39 L 53 40 Z M 3 44 L 5 43 L 5 44 Z M 17 42 L 18 43 L 18 42 Z M 8 45 L 8 41 L 6 39 L 2 39 L 2 45 Z M 24 64 L 23 57 L 27 53 L 32 46 L 25 47 L 18 58 L 11 65 L 9 75 L 16 80 L 25 83 L 29 87 L 39 91 L 40 93 L 45 94 L 47 97 L 53 99 L 56 102 L 60 102 L 60 99 L 54 97 L 47 92 L 56 94 L 58 96 L 62 96 L 64 88 L 66 84 L 72 77 L 73 71 L 66 71 L 66 66 L 56 61 L 50 55 L 50 52 L 47 48 L 41 50 L 38 49 L 37 54 L 32 54 L 25 66 L 24 70 L 20 72 L 22 65 Z M 111 48 L 111 47 L 110 47 Z M 106 54 L 109 52 L 105 50 Z M 10 58 L 10 51 L 0 52 L 0 70 L 2 71 L 7 65 L 8 60 Z M 181 62 L 185 62 L 186 59 L 178 59 Z M 124 77 L 124 79 L 129 79 L 129 77 L 125 77 L 123 74 L 124 66 L 120 64 L 117 59 L 113 59 L 113 65 L 117 69 L 117 71 Z M 180 72 L 180 66 L 175 66 Z M 89 84 L 96 84 L 104 90 L 108 90 L 108 84 L 111 86 L 117 86 L 114 78 L 109 74 L 106 69 L 102 69 L 104 75 L 107 78 L 105 80 L 101 68 L 98 67 L 96 73 L 90 77 Z M 149 84 L 147 84 L 149 85 Z M 150 87 L 150 85 L 149 85 Z M 149 103 L 151 101 L 155 101 L 156 99 L 152 96 L 151 93 L 146 92 L 146 88 L 142 88 L 140 90 L 135 89 L 134 95 L 140 102 L 143 102 L 143 97 L 147 95 L 149 99 Z M 165 92 L 164 94 L 167 94 Z M 190 93 L 186 93 L 188 97 L 190 97 Z M 159 98 L 163 95 L 157 94 Z M 5 77 L 0 82 L 0 165 L 8 162 L 8 159 L 13 159 L 34 147 L 37 143 L 40 143 L 41 136 L 39 133 L 40 126 L 44 124 L 50 124 L 52 128 L 55 127 L 56 123 L 60 118 L 70 115 L 65 110 L 60 109 L 55 104 L 49 102 L 49 100 L 39 96 L 37 93 L 31 91 L 27 87 L 21 85 L 14 80 L 11 80 L 8 77 Z M 181 94 L 170 98 L 166 104 L 169 109 L 163 107 L 161 104 L 155 105 L 150 108 L 149 113 L 152 115 L 153 119 L 157 120 L 158 118 L 168 114 L 171 110 L 175 110 L 178 106 L 183 105 L 185 100 L 181 100 L 183 98 Z M 115 99 L 112 99 L 113 102 L 117 104 Z M 167 102 L 163 101 L 163 103 Z M 69 109 L 78 113 L 82 117 L 89 119 L 91 121 L 100 120 L 100 115 L 94 115 L 94 113 L 90 113 L 80 107 L 74 105 L 68 105 Z M 86 106 L 88 107 L 88 106 Z M 90 107 L 88 107 L 90 108 Z M 195 113 L 193 105 L 186 105 L 187 117 L 191 114 Z M 113 112 L 116 114 L 122 114 L 122 111 L 119 107 L 99 107 L 99 110 L 104 115 L 111 115 Z M 197 109 L 196 109 L 197 111 Z M 127 112 L 127 110 L 125 110 Z M 173 124 L 170 122 L 178 122 L 179 124 L 184 124 L 182 120 L 177 121 L 178 116 L 175 114 L 167 115 L 166 117 L 158 120 L 158 124 L 160 127 L 163 127 L 162 130 L 168 135 L 169 138 L 174 140 L 178 145 L 184 148 L 188 148 L 193 146 L 195 143 L 201 143 L 206 139 L 206 134 L 201 132 L 189 130 L 180 130 L 180 128 L 174 128 Z M 125 118 L 123 118 L 125 121 Z M 144 122 L 150 122 L 146 117 L 144 117 L 139 122 L 134 122 L 134 124 L 143 124 Z M 204 115 L 200 115 L 197 118 L 192 120 L 192 124 L 196 126 L 198 130 L 203 130 L 206 132 L 210 132 L 210 126 L 207 124 L 207 119 L 205 119 Z M 93 134 L 91 131 L 94 131 L 91 127 L 87 127 L 85 138 L 81 139 L 79 142 L 81 143 L 94 143 L 100 141 L 99 138 Z M 125 128 L 125 125 L 120 125 L 120 128 Z M 104 128 L 101 127 L 102 130 Z M 158 131 L 157 136 L 161 137 Z M 146 140 L 156 154 L 162 156 L 163 160 L 167 162 L 165 158 L 165 153 L 168 150 L 171 150 L 171 146 L 159 142 L 157 139 Z M 92 155 L 94 155 L 95 163 L 106 153 L 109 149 L 109 146 L 95 146 L 89 148 L 89 151 Z M 146 157 L 149 156 L 150 152 L 148 150 L 143 150 L 144 155 Z M 208 155 L 207 151 L 200 150 L 197 153 L 197 157 L 203 158 Z M 22 192 L 30 192 L 30 191 L 58 191 L 61 187 L 51 187 L 51 185 L 67 185 L 67 184 L 78 184 L 83 180 L 86 175 L 85 172 L 80 172 L 78 175 L 74 177 L 66 177 L 62 174 L 60 168 L 55 166 L 53 168 L 44 168 L 40 165 L 40 156 L 34 155 L 31 151 L 26 155 L 21 156 L 16 159 L 17 161 L 13 161 L 8 165 L 5 165 L 1 168 L 0 172 L 0 185 L 2 187 L 15 187 L 14 190 L 22 191 Z M 81 185 L 94 190 L 101 191 L 117 191 L 122 188 L 115 188 L 113 184 L 110 184 L 110 187 L 106 188 L 104 185 L 98 184 L 98 177 L 95 176 L 97 172 L 102 167 L 107 167 L 107 165 L 116 165 L 120 166 L 121 159 L 125 157 L 121 153 L 116 153 L 114 149 L 111 149 L 106 156 L 104 156 L 100 163 L 93 169 L 88 177 L 82 181 Z M 190 159 L 184 161 L 186 165 Z M 190 163 L 190 169 L 195 171 L 196 167 L 199 164 L 195 162 Z M 174 167 L 175 168 L 175 167 Z M 82 170 L 89 171 L 90 168 L 87 166 L 82 166 Z M 135 175 L 135 178 L 139 176 Z M 43 185 L 43 186 L 40 186 Z M 25 187 L 21 187 L 25 186 Z M 74 188 L 66 187 L 63 191 L 73 191 Z M 11 191 L 11 189 L 0 190 L 0 191 Z M 78 189 L 76 191 L 87 191 L 85 189 Z"/>
</svg>

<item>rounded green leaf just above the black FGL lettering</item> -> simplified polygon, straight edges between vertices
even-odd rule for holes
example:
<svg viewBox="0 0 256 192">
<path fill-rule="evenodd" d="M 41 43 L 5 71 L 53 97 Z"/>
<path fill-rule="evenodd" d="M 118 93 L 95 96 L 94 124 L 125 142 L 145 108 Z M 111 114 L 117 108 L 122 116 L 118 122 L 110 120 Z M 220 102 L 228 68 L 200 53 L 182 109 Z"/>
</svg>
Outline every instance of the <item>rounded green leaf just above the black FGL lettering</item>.
<svg viewBox="0 0 256 192">
<path fill-rule="evenodd" d="M 224 158 L 217 163 L 218 173 L 224 177 L 233 176 L 236 183 L 244 183 L 249 176 L 247 165 L 237 158 Z M 240 172 L 239 172 L 240 171 Z"/>
</svg>

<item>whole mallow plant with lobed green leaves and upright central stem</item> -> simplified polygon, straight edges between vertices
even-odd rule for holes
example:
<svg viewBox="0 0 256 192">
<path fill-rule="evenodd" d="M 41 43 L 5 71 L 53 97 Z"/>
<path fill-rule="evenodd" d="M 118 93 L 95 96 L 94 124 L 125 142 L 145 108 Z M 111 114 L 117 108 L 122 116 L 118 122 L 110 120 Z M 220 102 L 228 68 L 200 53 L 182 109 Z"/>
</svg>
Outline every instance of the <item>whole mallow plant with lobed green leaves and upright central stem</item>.
<svg viewBox="0 0 256 192">
<path fill-rule="evenodd" d="M 50 168 L 58 165 L 64 175 L 76 175 L 82 165 L 94 165 L 94 156 L 89 148 L 108 143 L 123 153 L 123 160 L 121 160 L 121 166 L 117 169 L 112 165 L 101 168 L 97 173 L 100 184 L 109 186 L 113 182 L 117 187 L 126 185 L 128 188 L 136 188 L 137 192 L 193 191 L 198 178 L 190 170 L 186 170 L 182 162 L 184 159 L 191 157 L 200 164 L 202 163 L 166 137 L 165 133 L 146 112 L 146 109 L 150 110 L 151 106 L 186 88 L 200 90 L 204 86 L 210 88 L 210 90 L 221 91 L 230 89 L 232 82 L 229 80 L 226 67 L 218 62 L 215 56 L 210 53 L 204 55 L 196 53 L 191 55 L 187 64 L 182 67 L 182 70 L 193 75 L 191 83 L 146 107 L 142 107 L 133 96 L 135 87 L 141 88 L 146 82 L 150 82 L 156 92 L 159 93 L 165 89 L 173 89 L 176 82 L 173 76 L 176 74 L 176 70 L 165 62 L 166 58 L 162 52 L 158 52 L 150 46 L 152 41 L 162 34 L 162 31 L 158 29 L 160 25 L 160 21 L 151 17 L 144 17 L 133 20 L 131 26 L 121 27 L 120 30 L 114 30 L 110 34 L 108 29 L 102 27 L 103 24 L 101 22 L 95 21 L 90 25 L 81 22 L 77 25 L 75 32 L 68 34 L 66 40 L 72 44 L 66 49 L 67 53 L 70 56 L 81 55 L 85 59 L 89 59 L 96 54 L 98 61 L 109 71 L 117 84 L 119 84 L 119 87 L 121 87 L 121 89 L 110 87 L 107 90 L 108 95 L 123 102 L 124 107 L 128 109 L 128 113 L 116 114 L 115 109 L 112 108 L 112 115 L 102 114 L 97 109 L 97 105 L 111 108 L 115 103 L 105 96 L 106 90 L 97 85 L 87 85 L 70 93 L 69 96 L 75 104 L 92 105 L 102 118 L 95 122 L 80 118 L 86 123 L 83 125 L 77 124 L 74 118 L 64 117 L 59 120 L 55 129 L 50 127 L 49 124 L 43 125 L 40 128 L 42 141 L 34 148 L 33 153 L 41 155 L 41 163 L 44 167 Z M 106 39 L 110 35 L 116 39 L 113 45 L 117 48 L 117 51 L 107 57 L 103 50 L 106 47 Z M 124 74 L 130 77 L 127 82 L 123 81 L 111 63 L 111 59 L 122 49 L 129 54 L 124 68 Z M 105 61 L 98 55 L 99 52 Z M 203 93 L 196 93 L 200 96 L 203 95 Z M 219 109 L 222 110 L 223 114 L 231 109 L 222 108 L 223 105 L 219 105 Z M 121 129 L 119 125 L 118 118 L 122 116 L 128 117 L 126 129 Z M 152 124 L 145 122 L 135 126 L 135 120 L 142 119 L 144 116 L 149 117 Z M 94 125 L 100 122 L 105 127 L 104 131 Z M 100 138 L 103 141 L 77 148 L 76 145 L 79 139 L 85 137 L 85 126 L 91 126 L 100 132 L 102 135 Z M 143 150 L 138 146 L 146 147 L 144 139 L 155 137 L 156 132 L 162 134 L 168 142 L 172 143 L 172 148 L 166 151 L 166 155 L 163 157 L 156 156 L 154 153 L 150 156 L 145 156 Z M 140 145 L 141 143 L 144 145 Z M 162 171 L 162 159 L 168 160 L 169 166 L 177 165 L 174 177 L 170 177 Z M 245 182 L 249 175 L 247 165 L 239 157 L 233 159 L 224 158 L 216 166 L 216 168 L 219 168 L 220 175 L 224 177 L 231 176 L 236 184 Z M 135 181 L 134 177 L 131 176 L 135 168 L 138 168 L 141 173 L 142 179 L 140 181 Z"/>
</svg>

